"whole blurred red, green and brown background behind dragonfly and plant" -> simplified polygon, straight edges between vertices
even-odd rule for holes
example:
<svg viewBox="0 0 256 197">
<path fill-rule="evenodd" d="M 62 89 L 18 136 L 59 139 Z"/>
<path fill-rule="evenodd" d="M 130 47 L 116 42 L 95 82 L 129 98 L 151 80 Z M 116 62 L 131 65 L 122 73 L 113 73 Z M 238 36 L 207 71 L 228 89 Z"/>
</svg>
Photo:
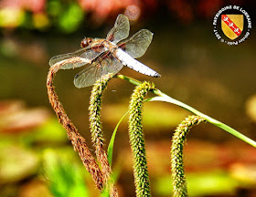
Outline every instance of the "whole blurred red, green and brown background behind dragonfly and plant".
<svg viewBox="0 0 256 197">
<path fill-rule="evenodd" d="M 224 5 L 240 5 L 251 16 L 251 35 L 238 46 L 214 36 L 212 20 Z M 255 8 L 245 0 L 2 0 L 0 196 L 99 196 L 48 103 L 48 59 L 79 49 L 84 36 L 105 37 L 121 13 L 130 19 L 130 35 L 142 28 L 154 32 L 139 61 L 162 77 L 149 78 L 127 67 L 123 75 L 154 81 L 167 95 L 256 140 Z M 59 71 L 55 86 L 69 118 L 93 149 L 88 126 L 91 87 L 78 89 L 72 82 L 79 70 Z M 109 83 L 102 108 L 106 144 L 128 109 L 133 88 L 120 79 Z M 171 136 L 187 115 L 166 103 L 144 105 L 155 196 L 172 193 Z M 254 148 L 229 133 L 209 124 L 197 126 L 185 147 L 190 196 L 256 196 L 255 156 Z M 115 140 L 116 169 L 120 196 L 134 196 L 127 119 Z"/>
</svg>

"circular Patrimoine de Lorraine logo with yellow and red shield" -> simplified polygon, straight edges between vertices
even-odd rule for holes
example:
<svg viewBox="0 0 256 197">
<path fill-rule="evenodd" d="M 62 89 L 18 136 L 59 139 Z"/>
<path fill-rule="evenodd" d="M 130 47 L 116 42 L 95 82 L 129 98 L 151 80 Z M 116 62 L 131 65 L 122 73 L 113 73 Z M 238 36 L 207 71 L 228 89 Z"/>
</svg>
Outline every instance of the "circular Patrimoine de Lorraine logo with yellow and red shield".
<svg viewBox="0 0 256 197">
<path fill-rule="evenodd" d="M 229 46 L 244 42 L 251 34 L 251 17 L 238 5 L 222 7 L 214 16 L 212 24 L 217 39 Z"/>
</svg>

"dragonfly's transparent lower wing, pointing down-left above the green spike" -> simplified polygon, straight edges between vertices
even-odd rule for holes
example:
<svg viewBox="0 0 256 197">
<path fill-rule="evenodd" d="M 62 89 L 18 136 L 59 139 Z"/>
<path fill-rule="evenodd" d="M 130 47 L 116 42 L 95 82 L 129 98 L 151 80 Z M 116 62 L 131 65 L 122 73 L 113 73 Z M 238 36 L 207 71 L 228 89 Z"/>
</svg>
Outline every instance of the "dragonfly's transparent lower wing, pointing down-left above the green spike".
<svg viewBox="0 0 256 197">
<path fill-rule="evenodd" d="M 118 73 L 122 69 L 123 64 L 116 58 L 112 58 L 110 56 L 104 59 L 99 58 L 93 62 L 91 66 L 80 71 L 80 73 L 74 78 L 75 86 L 77 88 L 89 87 L 93 85 L 96 80 L 101 78 L 101 76 L 108 73 Z"/>
</svg>

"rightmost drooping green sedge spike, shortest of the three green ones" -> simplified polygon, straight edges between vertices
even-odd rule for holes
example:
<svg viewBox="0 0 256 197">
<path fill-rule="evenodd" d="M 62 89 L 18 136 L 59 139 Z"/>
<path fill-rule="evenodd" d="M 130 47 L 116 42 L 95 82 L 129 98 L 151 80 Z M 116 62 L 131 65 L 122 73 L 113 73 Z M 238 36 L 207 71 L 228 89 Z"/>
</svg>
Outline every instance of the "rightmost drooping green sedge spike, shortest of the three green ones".
<svg viewBox="0 0 256 197">
<path fill-rule="evenodd" d="M 183 120 L 175 130 L 172 143 L 172 176 L 175 197 L 187 196 L 187 181 L 183 164 L 183 145 L 188 131 L 205 119 L 199 116 L 189 116 Z"/>
</svg>

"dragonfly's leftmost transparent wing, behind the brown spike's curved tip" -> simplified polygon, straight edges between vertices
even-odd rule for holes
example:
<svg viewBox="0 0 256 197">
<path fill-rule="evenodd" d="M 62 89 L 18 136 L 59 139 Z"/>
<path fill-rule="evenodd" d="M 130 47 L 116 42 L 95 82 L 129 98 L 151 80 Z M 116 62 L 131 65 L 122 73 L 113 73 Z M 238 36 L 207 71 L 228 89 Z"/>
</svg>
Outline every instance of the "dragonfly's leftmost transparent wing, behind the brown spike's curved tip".
<svg viewBox="0 0 256 197">
<path fill-rule="evenodd" d="M 69 59 L 72 57 L 86 58 L 87 62 L 88 62 L 88 60 L 93 60 L 94 58 L 98 57 L 103 51 L 104 51 L 104 48 L 102 48 L 101 52 L 93 50 L 93 48 L 80 48 L 79 50 L 75 51 L 74 53 L 62 54 L 59 56 L 51 57 L 48 64 L 51 67 L 59 61 Z M 60 67 L 60 69 L 70 69 L 70 68 L 75 68 L 75 67 L 82 67 L 86 64 L 87 64 L 86 62 L 72 62 L 72 63 L 64 62 L 63 66 Z"/>
</svg>

